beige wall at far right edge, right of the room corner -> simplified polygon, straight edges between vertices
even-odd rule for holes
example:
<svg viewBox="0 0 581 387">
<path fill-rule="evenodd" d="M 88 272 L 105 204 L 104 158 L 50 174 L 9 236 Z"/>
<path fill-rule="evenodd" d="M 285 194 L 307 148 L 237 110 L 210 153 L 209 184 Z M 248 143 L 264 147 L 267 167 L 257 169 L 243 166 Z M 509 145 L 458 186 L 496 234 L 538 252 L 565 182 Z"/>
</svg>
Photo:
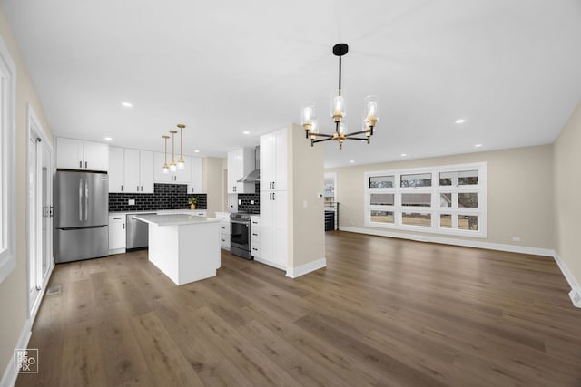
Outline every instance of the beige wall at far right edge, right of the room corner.
<svg viewBox="0 0 581 387">
<path fill-rule="evenodd" d="M 581 103 L 556 139 L 554 156 L 555 250 L 578 286 L 581 284 L 577 239 L 581 237 Z"/>
</svg>

